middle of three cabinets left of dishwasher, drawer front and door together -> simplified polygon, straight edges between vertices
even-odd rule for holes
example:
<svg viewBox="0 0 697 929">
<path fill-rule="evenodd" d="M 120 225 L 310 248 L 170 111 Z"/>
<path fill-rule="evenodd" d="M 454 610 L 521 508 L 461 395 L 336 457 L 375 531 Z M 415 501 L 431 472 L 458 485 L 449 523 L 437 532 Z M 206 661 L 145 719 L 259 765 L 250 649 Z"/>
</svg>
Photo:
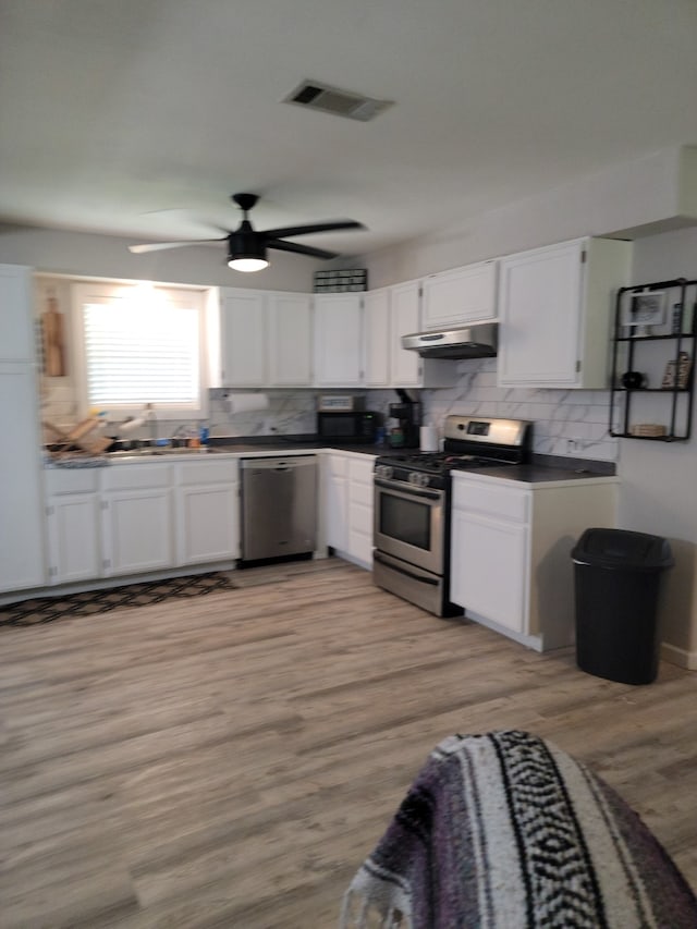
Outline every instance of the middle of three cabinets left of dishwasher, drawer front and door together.
<svg viewBox="0 0 697 929">
<path fill-rule="evenodd" d="M 105 576 L 163 571 L 174 564 L 169 465 L 105 468 L 102 546 Z"/>
</svg>

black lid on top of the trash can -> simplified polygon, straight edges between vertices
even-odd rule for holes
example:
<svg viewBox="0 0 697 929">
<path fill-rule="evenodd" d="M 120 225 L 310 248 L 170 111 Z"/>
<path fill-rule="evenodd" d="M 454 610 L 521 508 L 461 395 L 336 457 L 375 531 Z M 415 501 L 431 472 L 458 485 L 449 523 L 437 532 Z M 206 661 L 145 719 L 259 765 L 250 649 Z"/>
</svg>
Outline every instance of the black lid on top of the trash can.
<svg viewBox="0 0 697 929">
<path fill-rule="evenodd" d="M 572 549 L 576 564 L 660 571 L 672 567 L 671 547 L 660 536 L 626 529 L 586 529 Z"/>
</svg>

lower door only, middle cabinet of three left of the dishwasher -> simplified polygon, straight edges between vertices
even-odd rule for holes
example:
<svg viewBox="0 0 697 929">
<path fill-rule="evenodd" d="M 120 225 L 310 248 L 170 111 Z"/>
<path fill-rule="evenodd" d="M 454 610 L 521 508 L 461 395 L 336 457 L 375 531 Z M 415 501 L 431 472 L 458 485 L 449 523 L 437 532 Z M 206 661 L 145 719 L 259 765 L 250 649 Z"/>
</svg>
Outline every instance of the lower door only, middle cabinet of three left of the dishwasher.
<svg viewBox="0 0 697 929">
<path fill-rule="evenodd" d="M 169 488 L 123 490 L 103 498 L 105 574 L 172 567 L 171 500 Z"/>
</svg>

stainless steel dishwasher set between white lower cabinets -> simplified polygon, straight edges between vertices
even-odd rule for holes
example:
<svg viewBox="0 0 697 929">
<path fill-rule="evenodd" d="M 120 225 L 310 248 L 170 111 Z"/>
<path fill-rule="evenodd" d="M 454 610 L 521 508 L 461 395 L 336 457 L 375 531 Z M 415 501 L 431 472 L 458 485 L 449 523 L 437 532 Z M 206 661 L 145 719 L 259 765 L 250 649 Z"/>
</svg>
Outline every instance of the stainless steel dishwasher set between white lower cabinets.
<svg viewBox="0 0 697 929">
<path fill-rule="evenodd" d="M 309 554 L 317 530 L 315 455 L 242 459 L 242 561 Z"/>
</svg>

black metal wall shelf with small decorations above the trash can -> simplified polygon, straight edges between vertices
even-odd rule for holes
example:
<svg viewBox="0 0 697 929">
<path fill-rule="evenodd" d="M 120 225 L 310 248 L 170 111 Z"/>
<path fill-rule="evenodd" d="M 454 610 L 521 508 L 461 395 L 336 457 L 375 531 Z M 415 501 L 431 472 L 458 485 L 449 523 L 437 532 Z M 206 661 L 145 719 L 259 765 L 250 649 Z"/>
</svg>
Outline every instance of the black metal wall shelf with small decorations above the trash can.
<svg viewBox="0 0 697 929">
<path fill-rule="evenodd" d="M 636 305 L 635 297 L 656 296 L 662 303 L 661 310 L 649 311 L 652 330 L 641 332 L 647 326 L 628 321 L 628 307 Z M 674 310 L 672 313 L 671 310 Z M 632 309 L 633 311 L 633 309 Z M 693 416 L 693 386 L 695 346 L 697 344 L 697 281 L 677 278 L 672 281 L 655 281 L 649 284 L 636 284 L 617 291 L 612 340 L 612 380 L 610 391 L 610 435 L 623 439 L 644 439 L 652 442 L 674 442 L 689 439 Z M 636 334 L 633 334 L 636 332 Z M 657 343 L 659 343 L 657 345 Z M 670 353 L 661 352 L 660 343 L 672 343 Z M 688 371 L 684 382 L 680 383 L 677 371 L 681 362 L 687 356 Z M 659 371 L 665 363 L 673 368 L 672 382 L 665 386 L 665 374 Z M 627 371 L 639 371 L 644 376 L 646 367 L 652 367 L 651 380 L 661 380 L 660 386 L 650 383 L 643 387 L 624 387 L 622 377 Z M 657 367 L 659 366 L 659 367 Z M 657 423 L 646 424 L 637 419 L 639 398 L 663 395 L 664 403 L 653 412 Z M 663 435 L 640 435 L 643 429 L 663 428 Z M 639 432 L 637 435 L 637 432 Z"/>
</svg>

